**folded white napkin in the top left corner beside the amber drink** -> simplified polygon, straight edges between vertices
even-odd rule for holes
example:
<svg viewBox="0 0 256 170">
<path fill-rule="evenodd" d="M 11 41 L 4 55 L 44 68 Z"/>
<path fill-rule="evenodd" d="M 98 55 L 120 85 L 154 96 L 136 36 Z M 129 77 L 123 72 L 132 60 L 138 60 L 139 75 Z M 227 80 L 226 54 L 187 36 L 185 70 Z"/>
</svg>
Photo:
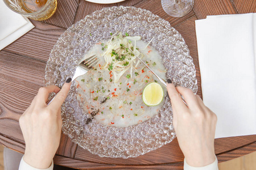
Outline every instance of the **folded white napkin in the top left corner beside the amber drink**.
<svg viewBox="0 0 256 170">
<path fill-rule="evenodd" d="M 0 0 L 0 50 L 34 28 L 34 25 L 22 15 L 10 10 Z"/>
</svg>

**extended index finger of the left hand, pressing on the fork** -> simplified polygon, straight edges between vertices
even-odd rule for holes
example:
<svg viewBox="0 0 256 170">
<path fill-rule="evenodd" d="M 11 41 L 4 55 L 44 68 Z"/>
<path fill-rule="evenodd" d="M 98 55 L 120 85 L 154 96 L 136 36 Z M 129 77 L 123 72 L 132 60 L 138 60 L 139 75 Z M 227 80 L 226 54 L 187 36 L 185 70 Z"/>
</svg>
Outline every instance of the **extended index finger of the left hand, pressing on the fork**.
<svg viewBox="0 0 256 170">
<path fill-rule="evenodd" d="M 55 96 L 55 98 L 52 100 L 52 102 L 48 105 L 48 107 L 55 109 L 57 111 L 63 104 L 64 100 L 66 99 L 70 87 L 71 87 L 71 78 L 67 79 L 67 82 L 64 83 L 63 87 Z"/>
</svg>

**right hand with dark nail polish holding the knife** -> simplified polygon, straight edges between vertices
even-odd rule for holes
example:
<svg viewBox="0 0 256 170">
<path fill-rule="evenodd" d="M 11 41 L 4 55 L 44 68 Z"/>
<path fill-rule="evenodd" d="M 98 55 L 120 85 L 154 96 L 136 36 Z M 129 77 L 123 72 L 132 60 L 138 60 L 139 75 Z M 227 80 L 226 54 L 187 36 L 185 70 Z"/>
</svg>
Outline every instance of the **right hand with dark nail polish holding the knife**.
<svg viewBox="0 0 256 170">
<path fill-rule="evenodd" d="M 167 81 L 167 91 L 174 113 L 177 141 L 187 164 L 203 167 L 214 162 L 214 135 L 217 116 L 207 108 L 198 95 L 185 87 Z M 183 95 L 185 103 L 180 95 Z"/>
</svg>

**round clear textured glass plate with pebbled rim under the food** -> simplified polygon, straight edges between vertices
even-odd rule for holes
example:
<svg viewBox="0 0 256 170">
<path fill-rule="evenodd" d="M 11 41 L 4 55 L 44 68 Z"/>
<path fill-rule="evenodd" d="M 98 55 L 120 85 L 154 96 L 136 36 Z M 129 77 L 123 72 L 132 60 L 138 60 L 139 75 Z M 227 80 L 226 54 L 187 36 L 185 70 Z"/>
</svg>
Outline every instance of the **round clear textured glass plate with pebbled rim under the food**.
<svg viewBox="0 0 256 170">
<path fill-rule="evenodd" d="M 141 36 L 163 57 L 167 69 L 166 78 L 176 86 L 197 92 L 196 70 L 189 56 L 183 37 L 170 23 L 150 11 L 135 7 L 107 7 L 86 16 L 60 36 L 52 49 L 46 66 L 46 86 L 63 86 L 72 77 L 80 59 L 94 44 L 110 39 L 110 32 L 125 32 Z M 171 142 L 175 137 L 172 125 L 172 108 L 168 97 L 160 112 L 150 120 L 127 128 L 115 128 L 98 124 L 84 113 L 76 100 L 76 87 L 71 90 L 61 107 L 63 132 L 92 154 L 110 158 L 130 158 Z"/>
</svg>

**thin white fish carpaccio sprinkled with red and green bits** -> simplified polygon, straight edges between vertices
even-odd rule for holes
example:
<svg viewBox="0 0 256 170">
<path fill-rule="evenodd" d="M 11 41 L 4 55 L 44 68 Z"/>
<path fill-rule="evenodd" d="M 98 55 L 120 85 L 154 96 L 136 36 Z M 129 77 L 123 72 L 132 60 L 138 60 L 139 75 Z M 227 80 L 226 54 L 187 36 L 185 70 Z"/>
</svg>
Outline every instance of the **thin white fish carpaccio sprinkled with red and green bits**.
<svg viewBox="0 0 256 170">
<path fill-rule="evenodd" d="M 143 49 L 146 44 L 142 40 L 137 41 L 139 49 Z M 100 56 L 103 52 L 101 49 L 100 42 L 86 53 L 85 58 L 93 54 Z M 148 46 L 141 53 L 144 55 L 143 61 L 147 61 L 148 66 L 165 79 L 166 68 L 159 52 Z M 155 80 L 158 81 L 143 63 L 139 63 L 132 73 L 128 69 L 118 82 L 114 83 L 112 71 L 103 69 L 105 61 L 103 57 L 100 59 L 94 70 L 76 79 L 77 100 L 85 114 L 92 114 L 100 124 L 124 128 L 139 124 L 159 113 L 164 100 L 154 107 L 148 107 L 142 100 L 144 87 Z M 166 87 L 163 87 L 163 90 L 165 96 Z"/>
</svg>

